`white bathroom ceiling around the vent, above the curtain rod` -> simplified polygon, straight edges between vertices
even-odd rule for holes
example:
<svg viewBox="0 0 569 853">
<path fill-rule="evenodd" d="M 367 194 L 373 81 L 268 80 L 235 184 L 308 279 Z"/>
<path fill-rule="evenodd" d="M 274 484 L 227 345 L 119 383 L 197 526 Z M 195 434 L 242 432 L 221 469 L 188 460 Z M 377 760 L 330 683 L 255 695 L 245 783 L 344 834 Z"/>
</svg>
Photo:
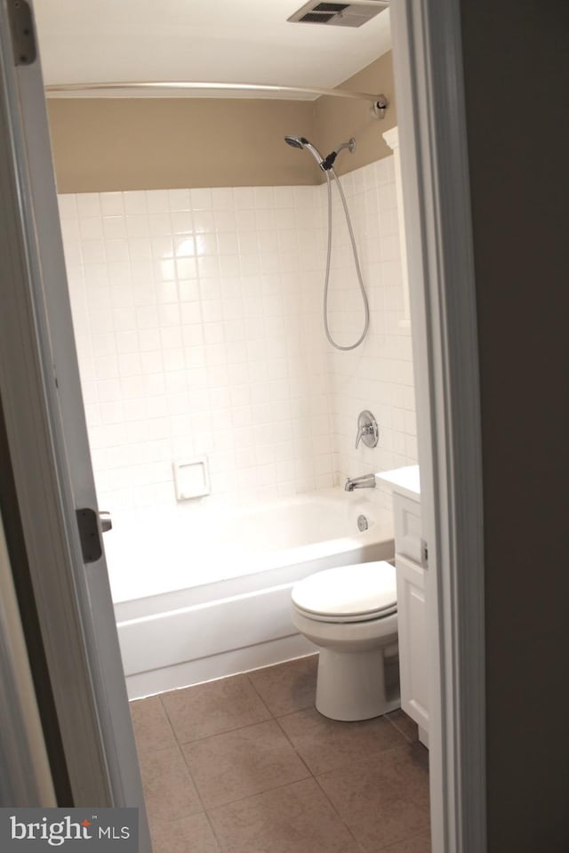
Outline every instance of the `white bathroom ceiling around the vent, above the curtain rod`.
<svg viewBox="0 0 569 853">
<path fill-rule="evenodd" d="M 389 11 L 359 28 L 289 23 L 303 2 L 35 0 L 44 81 L 333 87 L 389 50 Z"/>
</svg>

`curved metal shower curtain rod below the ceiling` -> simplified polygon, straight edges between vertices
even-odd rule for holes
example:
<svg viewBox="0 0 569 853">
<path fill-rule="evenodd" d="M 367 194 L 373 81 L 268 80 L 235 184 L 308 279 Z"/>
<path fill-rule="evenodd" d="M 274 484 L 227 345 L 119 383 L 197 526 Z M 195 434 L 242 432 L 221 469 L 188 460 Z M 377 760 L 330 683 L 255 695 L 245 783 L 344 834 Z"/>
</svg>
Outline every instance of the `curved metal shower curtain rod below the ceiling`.
<svg viewBox="0 0 569 853">
<path fill-rule="evenodd" d="M 57 83 L 45 86 L 47 95 L 59 93 L 80 93 L 80 92 L 108 92 L 115 89 L 132 89 L 134 91 L 149 91 L 160 92 L 168 89 L 183 90 L 216 90 L 224 89 L 231 92 L 297 92 L 301 94 L 314 95 L 332 95 L 334 98 L 351 98 L 357 101 L 369 101 L 374 112 L 379 113 L 378 117 L 383 117 L 383 113 L 389 106 L 389 101 L 382 94 L 372 94 L 367 92 L 349 92 L 347 89 L 325 89 L 322 87 L 312 86 L 277 86 L 270 84 L 254 84 L 254 83 L 195 83 L 188 81 L 152 81 L 148 83 Z"/>
</svg>

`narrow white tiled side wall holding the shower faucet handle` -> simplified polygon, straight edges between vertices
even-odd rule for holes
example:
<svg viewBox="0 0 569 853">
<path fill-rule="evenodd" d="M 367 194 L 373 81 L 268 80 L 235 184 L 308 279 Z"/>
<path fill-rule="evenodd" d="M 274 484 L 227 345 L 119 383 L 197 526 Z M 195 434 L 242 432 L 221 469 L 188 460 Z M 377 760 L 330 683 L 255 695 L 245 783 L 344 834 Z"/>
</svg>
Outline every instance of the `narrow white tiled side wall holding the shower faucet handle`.
<svg viewBox="0 0 569 853">
<path fill-rule="evenodd" d="M 405 323 L 393 157 L 341 179 L 356 235 L 370 303 L 370 329 L 357 350 L 326 343 L 330 363 L 334 471 L 340 479 L 417 462 L 411 329 Z M 327 205 L 326 187 L 319 188 Z M 364 326 L 349 232 L 333 188 L 333 255 L 330 327 L 342 345 L 357 341 Z M 355 449 L 357 415 L 370 409 L 380 426 L 376 448 Z M 385 499 L 390 507 L 390 496 Z"/>
</svg>

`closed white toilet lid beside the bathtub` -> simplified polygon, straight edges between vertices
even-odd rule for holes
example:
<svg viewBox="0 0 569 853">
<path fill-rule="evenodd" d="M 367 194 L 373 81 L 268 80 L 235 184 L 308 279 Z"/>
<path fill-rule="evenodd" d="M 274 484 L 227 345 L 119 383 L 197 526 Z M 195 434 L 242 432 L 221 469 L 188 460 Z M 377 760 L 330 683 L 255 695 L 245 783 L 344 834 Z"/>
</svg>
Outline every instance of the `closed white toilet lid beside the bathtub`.
<svg viewBox="0 0 569 853">
<path fill-rule="evenodd" d="M 317 616 L 387 616 L 397 609 L 395 567 L 376 560 L 328 568 L 294 584 L 293 604 Z"/>
</svg>

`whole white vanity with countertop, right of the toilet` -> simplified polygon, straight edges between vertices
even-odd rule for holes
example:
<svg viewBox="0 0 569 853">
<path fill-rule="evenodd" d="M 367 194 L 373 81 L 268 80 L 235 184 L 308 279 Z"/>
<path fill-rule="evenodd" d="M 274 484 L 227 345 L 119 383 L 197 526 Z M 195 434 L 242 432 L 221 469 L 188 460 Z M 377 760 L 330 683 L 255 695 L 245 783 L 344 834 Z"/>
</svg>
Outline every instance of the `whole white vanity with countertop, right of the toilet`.
<svg viewBox="0 0 569 853">
<path fill-rule="evenodd" d="M 429 745 L 429 651 L 425 607 L 428 554 L 421 530 L 419 466 L 376 474 L 393 494 L 401 707 Z"/>
</svg>

